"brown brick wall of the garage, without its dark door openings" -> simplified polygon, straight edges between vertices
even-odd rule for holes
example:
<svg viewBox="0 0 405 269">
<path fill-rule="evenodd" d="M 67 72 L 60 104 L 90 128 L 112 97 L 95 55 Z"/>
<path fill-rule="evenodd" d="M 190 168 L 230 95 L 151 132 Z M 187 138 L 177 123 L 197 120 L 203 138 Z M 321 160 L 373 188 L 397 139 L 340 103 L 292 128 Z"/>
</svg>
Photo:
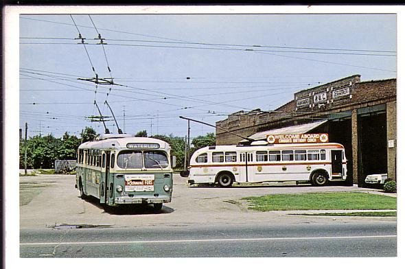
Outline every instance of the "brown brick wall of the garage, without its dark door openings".
<svg viewBox="0 0 405 269">
<path fill-rule="evenodd" d="M 396 163 L 396 79 L 371 80 L 360 82 L 360 75 L 329 82 L 294 94 L 294 100 L 271 112 L 253 110 L 238 111 L 227 119 L 218 121 L 216 126 L 240 134 L 251 136 L 256 132 L 305 124 L 320 119 L 351 119 L 353 154 L 353 180 L 358 182 L 359 155 L 358 114 L 373 112 L 373 108 L 386 107 L 387 166 L 389 178 L 395 179 Z M 216 129 L 217 145 L 235 145 L 242 139 L 233 134 Z M 394 147 L 389 148 L 389 141 Z M 392 143 L 392 142 L 391 142 Z"/>
</svg>

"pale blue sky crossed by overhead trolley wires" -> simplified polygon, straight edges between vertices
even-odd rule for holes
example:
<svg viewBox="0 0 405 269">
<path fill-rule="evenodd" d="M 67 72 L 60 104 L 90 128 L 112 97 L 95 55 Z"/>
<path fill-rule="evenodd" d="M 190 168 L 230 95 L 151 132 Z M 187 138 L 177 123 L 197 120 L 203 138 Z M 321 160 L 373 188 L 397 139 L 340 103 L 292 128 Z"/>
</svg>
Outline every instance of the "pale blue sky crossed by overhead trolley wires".
<svg viewBox="0 0 405 269">
<path fill-rule="evenodd" d="M 179 116 L 215 125 L 350 75 L 397 77 L 396 14 L 89 13 L 19 15 L 19 126 L 29 137 L 103 133 L 89 118 L 97 106 L 111 132 L 113 110 L 126 133 L 185 137 Z M 190 128 L 191 138 L 215 132 Z"/>
</svg>

